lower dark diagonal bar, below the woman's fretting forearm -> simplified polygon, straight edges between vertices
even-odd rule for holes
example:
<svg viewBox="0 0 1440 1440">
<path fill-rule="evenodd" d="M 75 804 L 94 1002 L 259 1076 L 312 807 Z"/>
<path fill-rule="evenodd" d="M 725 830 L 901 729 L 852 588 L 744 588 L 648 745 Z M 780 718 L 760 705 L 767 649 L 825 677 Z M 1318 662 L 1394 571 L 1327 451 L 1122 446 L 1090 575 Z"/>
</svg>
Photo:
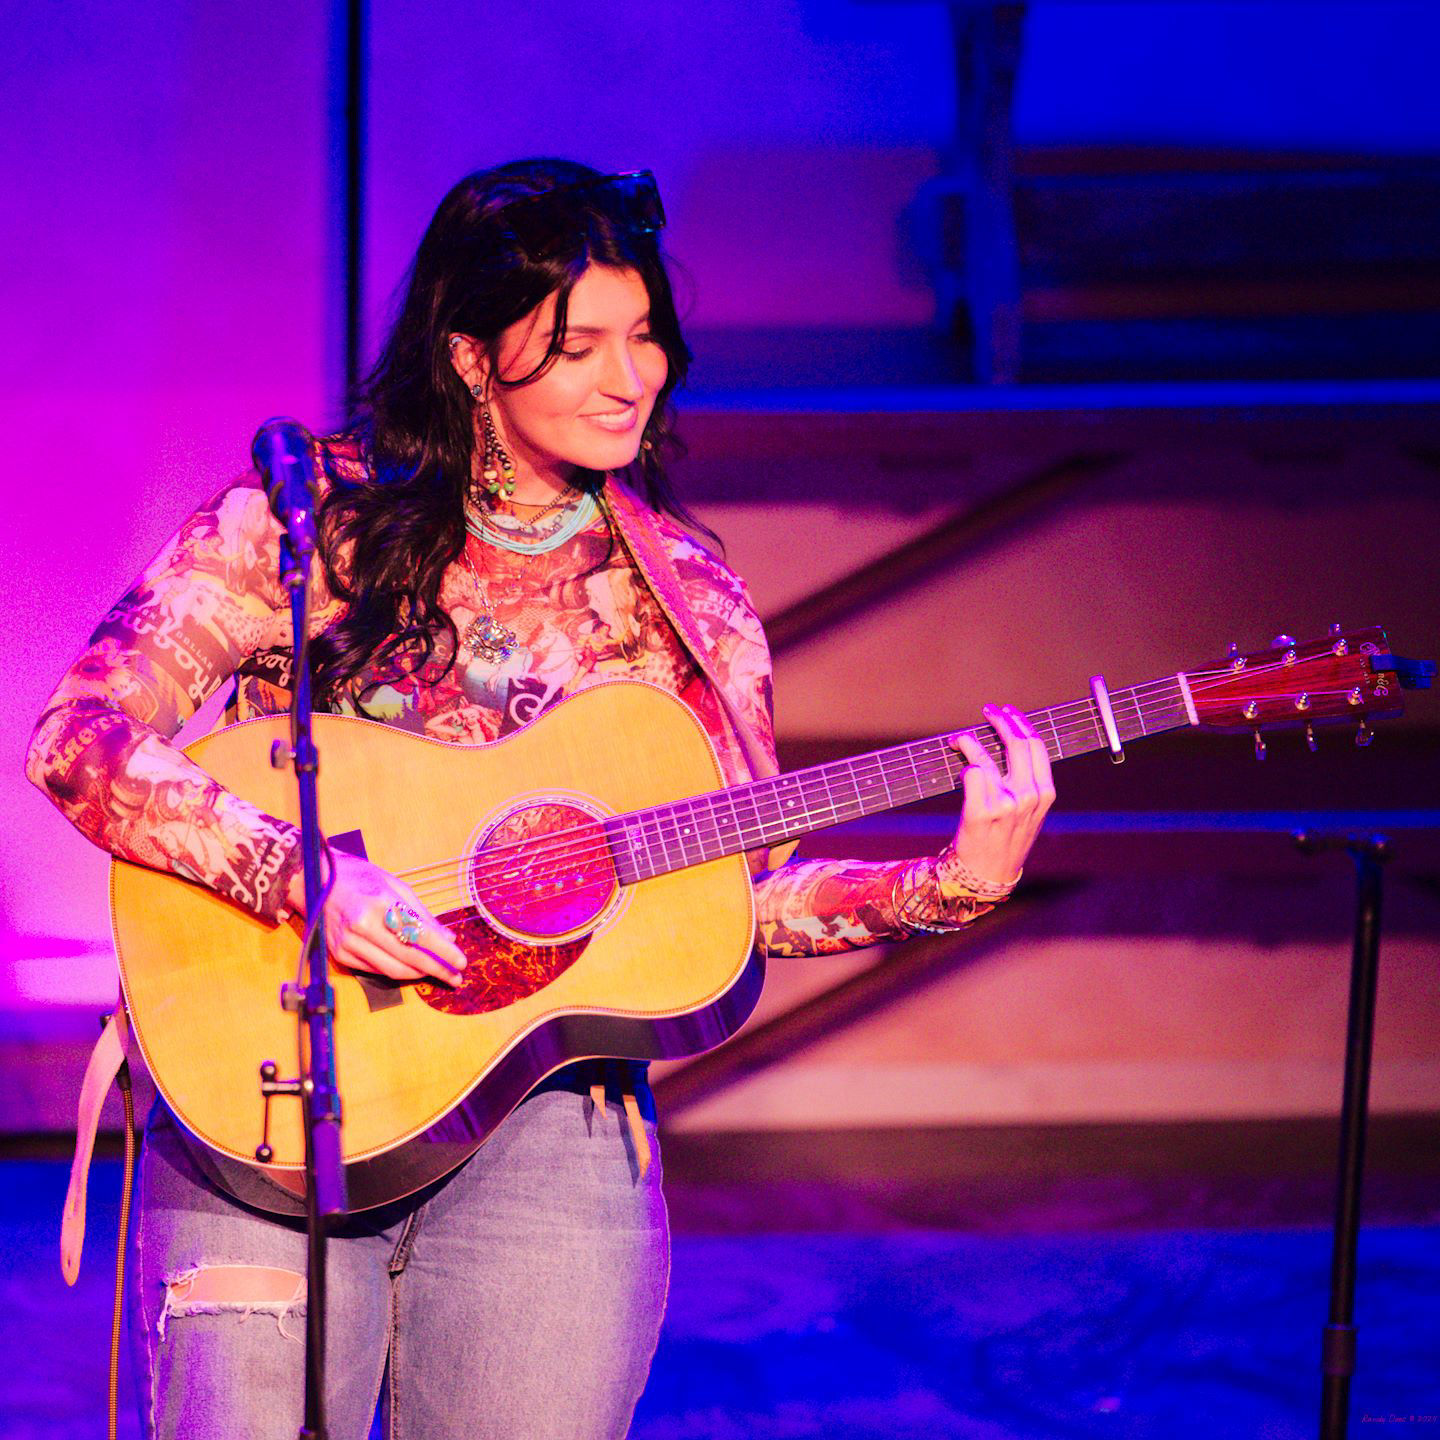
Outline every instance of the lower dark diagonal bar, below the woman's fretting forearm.
<svg viewBox="0 0 1440 1440">
<path fill-rule="evenodd" d="M 1021 917 L 1071 894 L 1081 884 L 1083 881 L 1076 880 L 1037 880 L 1027 884 L 1022 894 L 1007 901 L 984 922 L 979 943 L 976 932 L 971 929 L 956 935 L 924 936 L 896 946 L 884 959 L 858 975 L 743 1030 L 729 1044 L 698 1056 L 683 1068 L 657 1080 L 655 1103 L 661 1113 L 674 1115 L 897 1004 L 962 963 L 973 962 L 998 935 L 1012 929 Z"/>
</svg>

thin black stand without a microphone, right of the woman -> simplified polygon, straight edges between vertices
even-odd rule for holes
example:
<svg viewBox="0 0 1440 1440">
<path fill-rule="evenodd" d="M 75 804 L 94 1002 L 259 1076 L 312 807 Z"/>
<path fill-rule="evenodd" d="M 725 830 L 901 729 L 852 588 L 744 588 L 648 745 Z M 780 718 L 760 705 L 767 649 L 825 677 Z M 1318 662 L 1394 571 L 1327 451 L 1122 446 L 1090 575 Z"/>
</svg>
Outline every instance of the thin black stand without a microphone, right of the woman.
<svg viewBox="0 0 1440 1440">
<path fill-rule="evenodd" d="M 1345 1092 L 1341 1102 L 1335 1238 L 1331 1250 L 1331 1308 L 1329 1320 L 1320 1336 L 1319 1436 L 1320 1440 L 1345 1440 L 1351 1380 L 1355 1375 L 1355 1247 L 1359 1238 L 1359 1191 L 1365 1172 L 1375 991 L 1380 979 L 1380 867 L 1388 858 L 1388 842 L 1384 835 L 1362 838 L 1300 834 L 1295 840 L 1308 855 L 1344 845 L 1355 861 L 1355 946 L 1351 955 L 1345 1037 Z"/>
</svg>

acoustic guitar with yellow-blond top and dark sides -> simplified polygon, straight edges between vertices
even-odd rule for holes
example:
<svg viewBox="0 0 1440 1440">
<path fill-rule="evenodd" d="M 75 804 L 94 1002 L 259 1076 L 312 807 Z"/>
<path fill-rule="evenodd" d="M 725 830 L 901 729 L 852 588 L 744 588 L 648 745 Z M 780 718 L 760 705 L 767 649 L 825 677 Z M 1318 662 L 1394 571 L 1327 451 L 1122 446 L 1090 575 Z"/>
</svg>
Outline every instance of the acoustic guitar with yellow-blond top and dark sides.
<svg viewBox="0 0 1440 1440">
<path fill-rule="evenodd" d="M 1430 667 L 1433 670 L 1433 667 Z M 1129 690 L 1037 710 L 1051 760 L 1123 756 L 1146 736 L 1362 721 L 1401 710 L 1426 667 L 1381 629 L 1332 632 Z M 295 786 L 269 763 L 288 717 L 229 726 L 187 753 L 272 815 Z M 996 759 L 999 739 L 981 724 Z M 403 877 L 456 932 L 461 984 L 331 966 L 350 1202 L 410 1194 L 467 1159 L 524 1094 L 586 1057 L 719 1045 L 760 994 L 744 852 L 959 788 L 948 736 L 726 786 L 694 714 L 638 681 L 596 684 L 490 744 L 317 716 L 331 845 Z M 255 1164 L 258 1066 L 294 1054 L 276 1004 L 301 922 L 272 926 L 200 884 L 115 861 L 115 949 L 138 1045 L 166 1102 L 207 1146 Z M 298 1106 L 276 1109 L 265 1174 L 302 1189 Z M 279 1208 L 279 1207 L 276 1207 Z"/>
</svg>

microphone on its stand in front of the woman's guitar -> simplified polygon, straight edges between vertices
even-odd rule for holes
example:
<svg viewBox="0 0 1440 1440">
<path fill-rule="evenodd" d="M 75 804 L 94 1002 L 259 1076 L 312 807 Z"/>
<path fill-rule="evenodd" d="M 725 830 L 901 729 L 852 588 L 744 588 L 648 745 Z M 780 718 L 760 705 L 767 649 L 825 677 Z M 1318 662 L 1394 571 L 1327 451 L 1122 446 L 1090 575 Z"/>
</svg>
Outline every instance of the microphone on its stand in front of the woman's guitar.
<svg viewBox="0 0 1440 1440">
<path fill-rule="evenodd" d="M 272 429 L 262 426 L 261 436 Z M 297 426 L 298 429 L 298 426 Z M 302 433 L 302 432 L 301 432 Z M 261 448 L 256 436 L 256 452 Z M 336 992 L 330 985 L 328 948 L 325 943 L 325 841 L 320 829 L 320 805 L 315 778 L 320 753 L 311 732 L 310 713 L 310 567 L 315 553 L 315 527 L 311 513 L 312 491 L 310 455 L 287 454 L 271 442 L 271 462 L 261 469 L 269 481 L 271 503 L 281 513 L 281 583 L 289 592 L 294 626 L 294 685 L 288 753 L 281 742 L 271 750 L 271 763 L 281 769 L 289 762 L 300 788 L 300 844 L 305 877 L 305 940 L 301 949 L 302 982 L 281 986 L 281 1005 L 300 1022 L 300 1070 L 295 1080 L 276 1080 L 275 1064 L 261 1066 L 261 1092 L 266 1113 L 272 1094 L 300 1097 L 305 1126 L 305 1417 L 300 1440 L 325 1440 L 325 1233 L 331 1220 L 346 1214 L 346 1176 L 340 1143 L 340 1090 L 336 1083 Z M 304 468 L 304 482 L 297 484 L 295 467 Z M 281 482 L 276 469 L 289 471 Z M 279 491 L 285 490 L 281 501 Z M 268 1129 L 268 1126 L 266 1126 Z M 266 1159 L 268 1143 L 256 1158 Z"/>
</svg>

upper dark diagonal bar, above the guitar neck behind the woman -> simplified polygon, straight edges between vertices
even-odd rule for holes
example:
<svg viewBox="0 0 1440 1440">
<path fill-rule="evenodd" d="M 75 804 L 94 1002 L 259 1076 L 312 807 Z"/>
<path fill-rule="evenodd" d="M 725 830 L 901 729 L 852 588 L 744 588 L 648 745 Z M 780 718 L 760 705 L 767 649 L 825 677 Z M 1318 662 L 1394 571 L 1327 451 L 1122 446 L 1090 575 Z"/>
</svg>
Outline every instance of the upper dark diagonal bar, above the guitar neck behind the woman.
<svg viewBox="0 0 1440 1440">
<path fill-rule="evenodd" d="M 822 634 L 880 600 L 917 585 L 991 536 L 1035 510 L 1054 504 L 1096 475 L 1120 464 L 1116 452 L 1068 455 L 1009 488 L 956 511 L 937 526 L 788 605 L 765 622 L 770 652 L 779 654 Z"/>
</svg>

